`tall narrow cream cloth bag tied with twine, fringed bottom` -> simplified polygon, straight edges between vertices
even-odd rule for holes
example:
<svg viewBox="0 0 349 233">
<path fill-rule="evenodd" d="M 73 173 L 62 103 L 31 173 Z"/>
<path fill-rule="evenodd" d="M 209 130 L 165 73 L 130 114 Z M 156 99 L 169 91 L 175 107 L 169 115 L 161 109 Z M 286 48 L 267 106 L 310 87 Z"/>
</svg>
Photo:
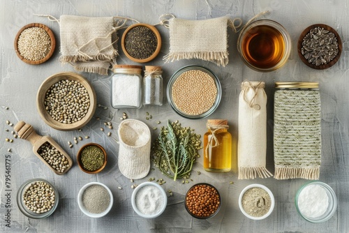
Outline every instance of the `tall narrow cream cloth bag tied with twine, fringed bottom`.
<svg viewBox="0 0 349 233">
<path fill-rule="evenodd" d="M 267 95 L 264 82 L 242 82 L 239 96 L 238 179 L 272 176 L 266 165 Z"/>
</svg>

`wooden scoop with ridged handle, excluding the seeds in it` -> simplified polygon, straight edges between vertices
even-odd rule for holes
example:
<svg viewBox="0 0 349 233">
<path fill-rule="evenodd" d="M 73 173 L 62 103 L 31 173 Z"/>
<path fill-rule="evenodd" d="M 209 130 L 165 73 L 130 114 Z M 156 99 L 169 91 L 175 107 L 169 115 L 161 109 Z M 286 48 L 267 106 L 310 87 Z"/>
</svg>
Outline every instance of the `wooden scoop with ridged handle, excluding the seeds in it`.
<svg viewBox="0 0 349 233">
<path fill-rule="evenodd" d="M 47 165 L 47 167 L 50 167 L 50 169 L 54 173 L 61 175 L 61 174 L 68 172 L 68 170 L 70 170 L 70 168 L 73 165 L 73 160 L 71 160 L 70 156 L 68 156 L 68 153 L 66 153 L 66 151 L 64 151 L 64 149 L 62 149 L 61 146 L 59 146 L 59 144 L 57 144 L 57 142 L 54 142 L 52 137 L 38 135 L 35 132 L 33 126 L 29 125 L 29 123 L 25 123 L 24 121 L 20 121 L 15 125 L 15 131 L 17 132 L 17 134 L 20 138 L 22 138 L 24 140 L 28 140 L 29 142 L 31 142 L 31 144 L 33 145 L 33 151 L 36 154 L 36 156 L 38 156 L 38 158 L 40 158 L 40 160 L 43 161 L 43 163 L 45 163 L 45 165 Z M 40 149 L 40 147 L 43 146 L 43 144 L 45 144 L 46 142 L 48 142 L 49 144 L 54 146 L 55 149 L 57 149 L 62 155 L 64 155 L 66 157 L 66 160 L 68 161 L 68 164 L 67 164 L 68 166 L 66 165 L 67 167 L 66 167 L 66 170 L 64 170 L 64 172 L 61 172 L 61 170 L 54 169 L 38 153 L 38 150 Z"/>
</svg>

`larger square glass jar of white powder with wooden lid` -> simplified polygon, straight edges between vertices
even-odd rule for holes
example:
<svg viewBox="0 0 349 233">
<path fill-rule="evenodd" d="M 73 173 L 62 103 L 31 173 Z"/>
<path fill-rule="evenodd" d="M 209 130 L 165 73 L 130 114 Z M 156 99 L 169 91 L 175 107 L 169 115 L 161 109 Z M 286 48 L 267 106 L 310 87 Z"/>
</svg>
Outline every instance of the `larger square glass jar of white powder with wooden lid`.
<svg viewBox="0 0 349 233">
<path fill-rule="evenodd" d="M 112 107 L 142 106 L 142 66 L 114 65 L 112 75 Z"/>
</svg>

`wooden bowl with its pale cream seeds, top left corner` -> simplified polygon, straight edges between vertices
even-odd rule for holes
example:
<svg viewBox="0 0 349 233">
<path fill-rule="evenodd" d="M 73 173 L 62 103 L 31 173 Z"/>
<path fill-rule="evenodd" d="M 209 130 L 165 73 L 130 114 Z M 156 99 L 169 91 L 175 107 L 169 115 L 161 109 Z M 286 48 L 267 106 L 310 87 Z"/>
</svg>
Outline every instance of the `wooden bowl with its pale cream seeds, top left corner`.
<svg viewBox="0 0 349 233">
<path fill-rule="evenodd" d="M 55 47 L 54 33 L 45 24 L 27 24 L 15 37 L 17 57 L 31 65 L 38 65 L 50 59 Z"/>
</svg>

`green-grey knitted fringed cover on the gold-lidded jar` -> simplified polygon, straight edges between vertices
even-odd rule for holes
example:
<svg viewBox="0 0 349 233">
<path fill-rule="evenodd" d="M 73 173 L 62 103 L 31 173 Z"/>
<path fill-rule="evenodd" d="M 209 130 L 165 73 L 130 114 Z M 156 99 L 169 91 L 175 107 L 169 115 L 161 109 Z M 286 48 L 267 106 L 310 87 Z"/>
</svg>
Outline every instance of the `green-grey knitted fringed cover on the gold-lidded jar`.
<svg viewBox="0 0 349 233">
<path fill-rule="evenodd" d="M 319 179 L 321 165 L 320 92 L 275 92 L 275 179 Z"/>
</svg>

